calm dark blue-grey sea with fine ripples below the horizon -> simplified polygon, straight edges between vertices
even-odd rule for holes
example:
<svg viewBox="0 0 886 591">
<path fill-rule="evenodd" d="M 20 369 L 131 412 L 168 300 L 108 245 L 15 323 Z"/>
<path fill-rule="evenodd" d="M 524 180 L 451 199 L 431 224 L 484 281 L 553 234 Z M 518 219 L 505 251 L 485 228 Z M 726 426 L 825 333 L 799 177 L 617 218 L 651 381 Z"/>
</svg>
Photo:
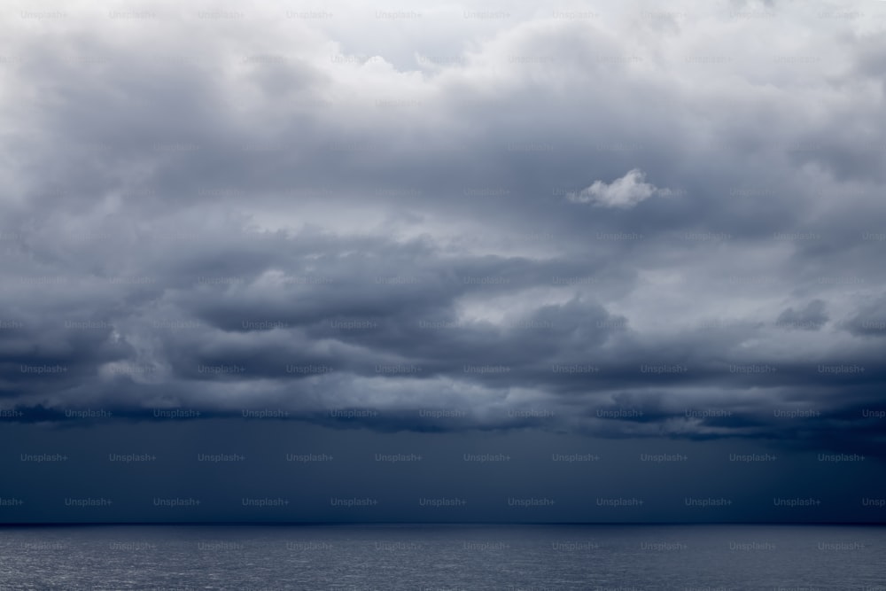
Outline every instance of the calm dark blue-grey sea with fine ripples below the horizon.
<svg viewBox="0 0 886 591">
<path fill-rule="evenodd" d="M 15 589 L 886 591 L 886 528 L 330 525 L 0 528 Z"/>
</svg>

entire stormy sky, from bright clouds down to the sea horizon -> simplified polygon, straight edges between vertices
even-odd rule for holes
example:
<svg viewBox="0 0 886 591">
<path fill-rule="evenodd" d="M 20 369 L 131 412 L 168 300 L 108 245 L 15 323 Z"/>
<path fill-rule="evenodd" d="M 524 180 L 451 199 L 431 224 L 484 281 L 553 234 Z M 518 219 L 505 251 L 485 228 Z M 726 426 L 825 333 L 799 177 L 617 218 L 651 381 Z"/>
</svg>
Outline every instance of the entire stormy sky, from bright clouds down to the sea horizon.
<svg viewBox="0 0 886 591">
<path fill-rule="evenodd" d="M 886 521 L 884 29 L 5 6 L 0 523 Z"/>
</svg>

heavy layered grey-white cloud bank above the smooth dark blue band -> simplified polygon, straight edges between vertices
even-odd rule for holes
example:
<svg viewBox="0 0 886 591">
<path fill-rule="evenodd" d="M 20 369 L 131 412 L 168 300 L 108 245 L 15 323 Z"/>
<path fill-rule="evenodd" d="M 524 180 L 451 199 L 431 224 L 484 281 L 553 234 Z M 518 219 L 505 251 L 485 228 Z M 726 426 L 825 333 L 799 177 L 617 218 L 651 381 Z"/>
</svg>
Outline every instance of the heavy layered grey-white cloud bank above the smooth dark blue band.
<svg viewBox="0 0 886 591">
<path fill-rule="evenodd" d="M 3 408 L 877 453 L 886 13 L 678 4 L 7 22 Z"/>
</svg>

